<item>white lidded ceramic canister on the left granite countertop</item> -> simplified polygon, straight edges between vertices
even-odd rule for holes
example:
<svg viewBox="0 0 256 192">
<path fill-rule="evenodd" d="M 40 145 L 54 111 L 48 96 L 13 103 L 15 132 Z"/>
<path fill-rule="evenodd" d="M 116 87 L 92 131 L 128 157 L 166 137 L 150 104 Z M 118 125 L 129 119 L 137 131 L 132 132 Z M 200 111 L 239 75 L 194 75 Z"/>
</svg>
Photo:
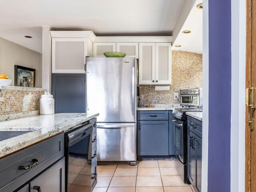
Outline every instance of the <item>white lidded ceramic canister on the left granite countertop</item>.
<svg viewBox="0 0 256 192">
<path fill-rule="evenodd" d="M 40 114 L 54 114 L 54 98 L 49 92 L 44 92 L 44 95 L 40 99 Z"/>
</svg>

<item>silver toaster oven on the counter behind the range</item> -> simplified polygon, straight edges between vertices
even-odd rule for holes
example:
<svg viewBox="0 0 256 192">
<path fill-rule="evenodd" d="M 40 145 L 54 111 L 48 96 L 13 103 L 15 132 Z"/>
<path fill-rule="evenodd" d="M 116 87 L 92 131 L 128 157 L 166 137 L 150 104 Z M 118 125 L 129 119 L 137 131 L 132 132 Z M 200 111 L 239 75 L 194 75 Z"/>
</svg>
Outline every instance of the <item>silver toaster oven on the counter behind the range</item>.
<svg viewBox="0 0 256 192">
<path fill-rule="evenodd" d="M 203 106 L 203 89 L 191 88 L 180 90 L 181 106 Z"/>
</svg>

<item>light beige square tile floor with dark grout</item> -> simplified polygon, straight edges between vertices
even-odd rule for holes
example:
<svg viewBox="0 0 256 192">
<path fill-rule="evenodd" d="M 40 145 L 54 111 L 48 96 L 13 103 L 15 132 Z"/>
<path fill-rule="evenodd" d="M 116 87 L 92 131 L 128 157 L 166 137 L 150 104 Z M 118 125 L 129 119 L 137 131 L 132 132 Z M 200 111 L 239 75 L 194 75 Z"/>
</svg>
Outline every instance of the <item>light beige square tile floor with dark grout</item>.
<svg viewBox="0 0 256 192">
<path fill-rule="evenodd" d="M 194 192 L 178 176 L 174 160 L 139 161 L 138 165 L 98 165 L 93 192 Z"/>
</svg>

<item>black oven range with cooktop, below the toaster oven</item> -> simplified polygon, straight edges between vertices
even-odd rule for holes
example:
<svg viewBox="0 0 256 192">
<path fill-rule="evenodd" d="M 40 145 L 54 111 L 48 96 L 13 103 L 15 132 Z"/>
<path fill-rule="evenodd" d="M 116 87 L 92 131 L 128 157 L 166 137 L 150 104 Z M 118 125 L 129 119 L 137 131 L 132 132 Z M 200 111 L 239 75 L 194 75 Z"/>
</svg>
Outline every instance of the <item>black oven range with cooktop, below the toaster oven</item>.
<svg viewBox="0 0 256 192">
<path fill-rule="evenodd" d="M 176 158 L 175 167 L 180 176 L 180 178 L 186 183 L 189 182 L 187 178 L 187 116 L 186 112 L 202 111 L 202 108 L 175 108 L 172 111 L 174 120 L 175 130 L 175 148 L 176 148 Z"/>
</svg>

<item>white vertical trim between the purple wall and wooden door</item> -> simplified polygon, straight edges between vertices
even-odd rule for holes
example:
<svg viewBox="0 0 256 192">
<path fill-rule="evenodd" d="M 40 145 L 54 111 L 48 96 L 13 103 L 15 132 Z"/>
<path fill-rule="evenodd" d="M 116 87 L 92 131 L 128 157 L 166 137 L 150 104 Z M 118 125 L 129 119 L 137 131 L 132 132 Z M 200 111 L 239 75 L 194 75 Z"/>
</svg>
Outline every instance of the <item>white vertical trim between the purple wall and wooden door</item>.
<svg viewBox="0 0 256 192">
<path fill-rule="evenodd" d="M 245 70 L 246 0 L 232 0 L 232 91 L 230 189 L 244 192 L 245 186 Z"/>
</svg>

